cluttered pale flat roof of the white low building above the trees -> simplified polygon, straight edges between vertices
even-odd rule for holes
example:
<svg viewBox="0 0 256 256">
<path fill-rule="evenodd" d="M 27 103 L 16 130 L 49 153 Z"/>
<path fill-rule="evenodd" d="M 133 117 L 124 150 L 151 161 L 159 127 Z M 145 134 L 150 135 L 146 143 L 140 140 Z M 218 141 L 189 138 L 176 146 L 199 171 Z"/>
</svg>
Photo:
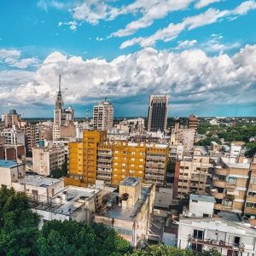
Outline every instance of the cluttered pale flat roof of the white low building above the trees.
<svg viewBox="0 0 256 256">
<path fill-rule="evenodd" d="M 51 199 L 50 203 L 45 201 L 44 203 L 41 203 L 32 208 L 45 212 L 54 212 L 56 214 L 69 216 L 77 209 L 79 209 L 79 207 L 82 207 L 86 201 L 89 201 L 90 198 L 94 197 L 100 191 L 100 189 L 67 186 L 65 189 L 56 194 Z M 64 195 L 67 196 L 66 200 L 63 200 Z M 61 202 L 59 202 L 59 200 Z"/>
</svg>

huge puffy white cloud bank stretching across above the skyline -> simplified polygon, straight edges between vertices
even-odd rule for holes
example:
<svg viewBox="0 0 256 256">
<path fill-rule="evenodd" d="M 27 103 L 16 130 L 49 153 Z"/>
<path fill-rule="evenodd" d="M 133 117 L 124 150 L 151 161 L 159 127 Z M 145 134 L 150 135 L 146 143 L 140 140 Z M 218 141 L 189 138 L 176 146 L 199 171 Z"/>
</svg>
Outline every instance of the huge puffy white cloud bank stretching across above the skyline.
<svg viewBox="0 0 256 256">
<path fill-rule="evenodd" d="M 247 45 L 231 56 L 208 56 L 201 49 L 174 53 L 145 48 L 113 61 L 68 58 L 54 52 L 35 73 L 2 72 L 0 85 L 3 81 L 5 85 L 1 87 L 0 103 L 52 105 L 61 73 L 63 96 L 71 104 L 86 104 L 102 96 L 143 97 L 146 102 L 151 93 L 170 94 L 171 104 L 188 108 L 242 104 L 255 102 L 255 66 L 256 45 Z M 23 79 L 19 81 L 20 75 Z"/>
</svg>

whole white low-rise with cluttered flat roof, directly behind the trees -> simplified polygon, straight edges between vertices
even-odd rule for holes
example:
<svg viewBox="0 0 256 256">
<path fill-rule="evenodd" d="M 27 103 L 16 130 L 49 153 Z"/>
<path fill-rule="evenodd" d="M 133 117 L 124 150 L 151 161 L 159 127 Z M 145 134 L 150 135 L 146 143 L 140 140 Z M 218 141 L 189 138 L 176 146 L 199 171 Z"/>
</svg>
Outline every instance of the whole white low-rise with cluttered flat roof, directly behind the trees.
<svg viewBox="0 0 256 256">
<path fill-rule="evenodd" d="M 32 201 L 33 212 L 40 216 L 41 227 L 50 220 L 75 220 L 91 224 L 95 212 L 102 206 L 102 190 L 67 186 L 49 201 Z"/>
</svg>

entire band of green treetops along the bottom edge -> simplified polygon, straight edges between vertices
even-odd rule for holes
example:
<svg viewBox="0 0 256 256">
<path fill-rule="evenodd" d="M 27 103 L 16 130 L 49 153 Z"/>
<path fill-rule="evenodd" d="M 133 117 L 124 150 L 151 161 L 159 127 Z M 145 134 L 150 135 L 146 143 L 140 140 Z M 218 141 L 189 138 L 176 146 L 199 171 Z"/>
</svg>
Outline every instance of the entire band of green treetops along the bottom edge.
<svg viewBox="0 0 256 256">
<path fill-rule="evenodd" d="M 0 189 L 0 255 L 7 256 L 194 256 L 191 250 L 164 245 L 133 249 L 128 241 L 103 224 L 52 220 L 38 230 L 38 215 L 25 194 Z M 216 251 L 201 253 L 219 256 Z"/>
</svg>

